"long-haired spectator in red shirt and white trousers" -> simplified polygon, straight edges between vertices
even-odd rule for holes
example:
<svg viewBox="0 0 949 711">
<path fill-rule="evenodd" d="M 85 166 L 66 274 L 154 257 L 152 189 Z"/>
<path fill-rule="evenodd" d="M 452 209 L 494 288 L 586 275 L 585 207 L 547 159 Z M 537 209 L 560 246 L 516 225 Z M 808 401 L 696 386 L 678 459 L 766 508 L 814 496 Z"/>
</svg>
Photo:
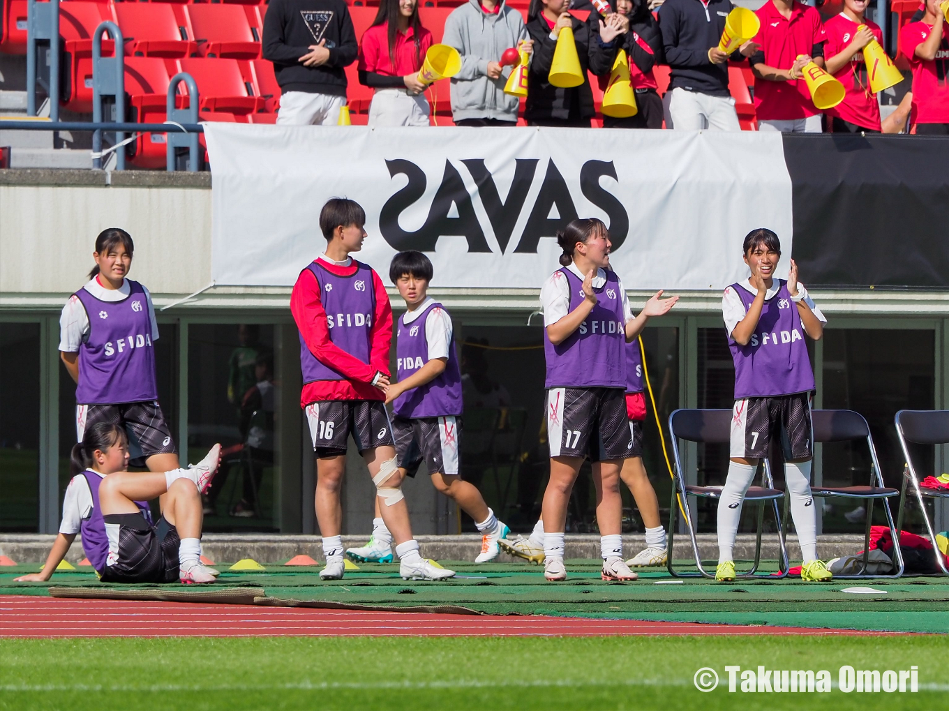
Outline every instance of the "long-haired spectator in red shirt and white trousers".
<svg viewBox="0 0 949 711">
<path fill-rule="evenodd" d="M 421 26 L 418 0 L 382 0 L 359 48 L 359 81 L 375 93 L 370 126 L 427 126 L 429 105 L 419 81 L 432 33 Z"/>
</svg>

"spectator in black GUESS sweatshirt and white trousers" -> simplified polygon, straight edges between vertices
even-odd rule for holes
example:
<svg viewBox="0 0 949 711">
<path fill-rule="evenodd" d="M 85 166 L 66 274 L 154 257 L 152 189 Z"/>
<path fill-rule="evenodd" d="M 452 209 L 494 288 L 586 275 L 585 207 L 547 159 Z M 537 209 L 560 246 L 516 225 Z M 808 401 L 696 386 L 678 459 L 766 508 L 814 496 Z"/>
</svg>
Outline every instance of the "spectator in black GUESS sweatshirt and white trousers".
<svg viewBox="0 0 949 711">
<path fill-rule="evenodd" d="M 335 126 L 359 49 L 344 0 L 270 0 L 262 44 L 283 92 L 277 123 Z"/>
</svg>

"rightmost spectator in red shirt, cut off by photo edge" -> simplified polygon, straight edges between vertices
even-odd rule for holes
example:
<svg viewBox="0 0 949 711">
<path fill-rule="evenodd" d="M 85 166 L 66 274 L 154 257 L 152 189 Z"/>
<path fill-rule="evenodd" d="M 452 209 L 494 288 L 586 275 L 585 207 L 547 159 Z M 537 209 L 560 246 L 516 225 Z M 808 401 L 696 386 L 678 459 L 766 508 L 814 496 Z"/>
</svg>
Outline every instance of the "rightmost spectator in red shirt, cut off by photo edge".
<svg viewBox="0 0 949 711">
<path fill-rule="evenodd" d="M 922 18 L 900 30 L 900 47 L 913 69 L 911 122 L 916 124 L 916 133 L 949 134 L 949 86 L 945 81 L 949 43 L 938 0 L 926 0 Z"/>
</svg>

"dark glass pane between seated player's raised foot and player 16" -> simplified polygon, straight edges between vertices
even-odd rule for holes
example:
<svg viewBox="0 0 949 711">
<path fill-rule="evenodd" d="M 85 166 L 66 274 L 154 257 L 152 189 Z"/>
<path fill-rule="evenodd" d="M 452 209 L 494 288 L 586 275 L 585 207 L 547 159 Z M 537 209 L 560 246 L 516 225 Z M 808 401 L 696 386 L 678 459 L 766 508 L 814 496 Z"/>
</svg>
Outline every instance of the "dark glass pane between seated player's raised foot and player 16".
<svg viewBox="0 0 949 711">
<path fill-rule="evenodd" d="M 279 326 L 189 324 L 188 457 L 223 447 L 205 531 L 279 529 Z"/>
</svg>

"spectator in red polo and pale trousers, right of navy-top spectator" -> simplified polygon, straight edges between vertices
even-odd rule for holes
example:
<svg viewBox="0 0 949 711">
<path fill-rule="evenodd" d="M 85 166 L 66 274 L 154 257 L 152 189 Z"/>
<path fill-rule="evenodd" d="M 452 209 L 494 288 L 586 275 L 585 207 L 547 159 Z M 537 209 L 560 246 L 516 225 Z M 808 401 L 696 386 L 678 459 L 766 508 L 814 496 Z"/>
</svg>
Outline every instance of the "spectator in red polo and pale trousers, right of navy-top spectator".
<svg viewBox="0 0 949 711">
<path fill-rule="evenodd" d="M 797 0 L 768 0 L 754 11 L 761 21 L 751 57 L 758 130 L 821 133 L 821 113 L 810 100 L 801 70 L 824 66 L 827 34 L 820 13 Z"/>
</svg>

